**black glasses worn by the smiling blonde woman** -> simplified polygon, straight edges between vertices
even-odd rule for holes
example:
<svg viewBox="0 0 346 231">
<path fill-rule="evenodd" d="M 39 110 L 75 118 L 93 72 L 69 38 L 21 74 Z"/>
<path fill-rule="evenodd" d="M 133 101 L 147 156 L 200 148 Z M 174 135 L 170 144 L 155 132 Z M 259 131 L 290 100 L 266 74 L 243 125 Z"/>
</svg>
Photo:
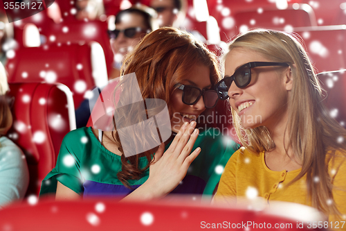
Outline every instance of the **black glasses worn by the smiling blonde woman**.
<svg viewBox="0 0 346 231">
<path fill-rule="evenodd" d="M 248 62 L 235 70 L 233 76 L 226 76 L 215 85 L 219 99 L 228 99 L 228 90 L 233 81 L 239 88 L 245 88 L 251 82 L 251 68 L 253 67 L 269 67 L 269 66 L 282 66 L 289 67 L 286 62 Z"/>
</svg>

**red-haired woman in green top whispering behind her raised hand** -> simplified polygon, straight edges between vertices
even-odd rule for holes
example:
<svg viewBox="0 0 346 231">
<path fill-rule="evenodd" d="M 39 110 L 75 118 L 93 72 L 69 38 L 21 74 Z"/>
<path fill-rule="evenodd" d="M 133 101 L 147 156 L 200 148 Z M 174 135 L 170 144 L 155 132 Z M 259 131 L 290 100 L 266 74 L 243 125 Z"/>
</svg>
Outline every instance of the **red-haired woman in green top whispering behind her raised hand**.
<svg viewBox="0 0 346 231">
<path fill-rule="evenodd" d="M 201 113 L 217 103 L 214 85 L 219 70 L 215 55 L 189 33 L 161 28 L 136 46 L 123 67 L 124 76 L 136 74 L 143 99 L 167 103 L 169 126 L 177 134 L 165 146 L 125 157 L 120 128 L 73 130 L 64 138 L 57 165 L 42 182 L 41 194 L 56 192 L 59 199 L 100 195 L 151 199 L 170 192 L 212 194 L 221 175 L 219 170 L 237 148 L 235 142 L 222 139 L 219 130 L 194 129 Z M 117 112 L 117 117 L 135 124 L 133 119 L 141 115 L 135 103 L 127 103 L 127 98 L 133 97 L 131 89 L 124 87 L 128 79 L 124 77 L 117 86 L 122 87 L 118 105 L 127 105 L 131 118 L 125 112 Z M 125 134 L 127 140 L 143 140 L 140 132 L 132 133 Z"/>
</svg>

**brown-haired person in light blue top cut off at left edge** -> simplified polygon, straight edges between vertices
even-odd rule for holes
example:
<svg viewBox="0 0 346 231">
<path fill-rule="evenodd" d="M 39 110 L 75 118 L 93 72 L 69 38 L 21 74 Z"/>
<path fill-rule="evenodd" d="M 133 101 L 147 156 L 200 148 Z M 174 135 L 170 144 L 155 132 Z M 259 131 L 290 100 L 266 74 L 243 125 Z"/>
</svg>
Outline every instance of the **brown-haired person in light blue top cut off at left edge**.
<svg viewBox="0 0 346 231">
<path fill-rule="evenodd" d="M 24 154 L 5 136 L 12 126 L 12 114 L 4 95 L 7 90 L 6 71 L 0 64 L 0 208 L 24 198 L 29 184 Z"/>
</svg>

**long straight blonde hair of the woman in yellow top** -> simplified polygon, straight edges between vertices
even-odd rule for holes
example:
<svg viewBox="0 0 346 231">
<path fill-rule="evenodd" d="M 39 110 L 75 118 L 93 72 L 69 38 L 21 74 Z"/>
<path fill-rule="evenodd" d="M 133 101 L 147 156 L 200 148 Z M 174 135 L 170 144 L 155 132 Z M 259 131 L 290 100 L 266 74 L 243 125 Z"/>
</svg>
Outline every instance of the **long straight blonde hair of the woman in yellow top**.
<svg viewBox="0 0 346 231">
<path fill-rule="evenodd" d="M 312 206 L 326 214 L 340 215 L 334 203 L 327 204 L 333 198 L 328 162 L 336 150 L 345 153 L 346 144 L 339 144 L 337 137 L 346 137 L 346 130 L 329 116 L 322 103 L 322 87 L 300 40 L 280 31 L 255 30 L 236 37 L 230 43 L 228 53 L 237 47 L 260 53 L 272 62 L 290 65 L 293 87 L 289 96 L 289 119 L 284 131 L 289 142 L 284 147 L 286 153 L 292 151 L 302 163 L 302 171 L 291 183 L 307 175 L 307 191 Z M 266 127 L 245 130 L 233 109 L 232 114 L 243 146 L 256 153 L 275 148 Z M 327 152 L 331 155 L 327 156 Z M 320 181 L 314 183 L 314 177 Z"/>
</svg>

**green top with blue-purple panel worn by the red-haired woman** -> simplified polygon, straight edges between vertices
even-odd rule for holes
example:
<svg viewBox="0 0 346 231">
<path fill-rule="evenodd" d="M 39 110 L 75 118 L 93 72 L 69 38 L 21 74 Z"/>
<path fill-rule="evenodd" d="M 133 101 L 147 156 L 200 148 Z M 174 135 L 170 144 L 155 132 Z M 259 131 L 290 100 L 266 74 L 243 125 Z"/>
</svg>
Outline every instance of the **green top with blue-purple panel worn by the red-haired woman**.
<svg viewBox="0 0 346 231">
<path fill-rule="evenodd" d="M 171 142 L 170 142 L 171 143 Z M 167 144 L 165 150 L 170 146 Z M 201 153 L 192 162 L 187 176 L 173 193 L 212 195 L 222 170 L 230 156 L 239 148 L 219 130 L 201 131 L 194 148 Z M 147 158 L 139 158 L 139 167 L 147 165 Z M 42 181 L 40 196 L 55 193 L 57 180 L 78 194 L 86 196 L 126 196 L 149 177 L 149 169 L 139 180 L 128 180 L 133 189 L 127 189 L 116 174 L 121 170 L 120 156 L 108 151 L 93 134 L 91 128 L 78 128 L 69 132 L 62 141 L 55 168 Z"/>
</svg>

